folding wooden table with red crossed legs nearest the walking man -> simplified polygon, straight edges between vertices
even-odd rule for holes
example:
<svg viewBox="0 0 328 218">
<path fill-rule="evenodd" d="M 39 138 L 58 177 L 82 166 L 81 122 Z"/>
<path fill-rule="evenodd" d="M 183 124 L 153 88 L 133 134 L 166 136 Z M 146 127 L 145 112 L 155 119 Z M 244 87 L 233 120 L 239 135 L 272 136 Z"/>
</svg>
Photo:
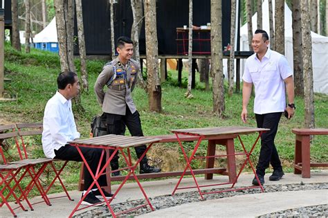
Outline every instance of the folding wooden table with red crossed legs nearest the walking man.
<svg viewBox="0 0 328 218">
<path fill-rule="evenodd" d="M 173 129 L 171 130 L 174 134 L 176 134 L 176 138 L 179 141 L 179 145 L 181 147 L 181 151 L 183 153 L 183 156 L 185 158 L 185 162 L 186 162 L 186 166 L 185 166 L 185 170 L 183 172 L 183 174 L 181 175 L 178 183 L 176 184 L 172 195 L 174 195 L 174 193 L 176 192 L 176 190 L 180 190 L 180 189 L 186 189 L 186 188 L 197 188 L 199 191 L 199 194 L 201 195 L 201 199 L 203 199 L 203 194 L 211 194 L 211 193 L 217 193 L 217 192 L 222 192 L 222 191 L 217 191 L 217 192 L 202 192 L 200 188 L 202 187 L 208 187 L 208 186 L 213 186 L 213 185 L 226 185 L 226 184 L 232 184 L 230 190 L 244 190 L 244 189 L 249 189 L 249 188 L 261 188 L 262 192 L 264 192 L 264 189 L 261 185 L 261 183 L 259 182 L 259 179 L 257 177 L 257 174 L 255 172 L 255 169 L 253 167 L 252 162 L 250 161 L 250 155 L 253 152 L 253 149 L 255 147 L 255 145 L 257 144 L 257 141 L 259 140 L 259 137 L 262 135 L 262 133 L 264 131 L 268 131 L 270 129 L 263 129 L 263 128 L 253 128 L 253 127 L 207 127 L 207 128 L 196 128 L 196 129 Z M 242 134 L 253 134 L 255 132 L 258 132 L 259 135 L 257 136 L 255 142 L 253 143 L 252 147 L 250 148 L 249 151 L 246 150 L 246 147 L 244 146 L 244 143 L 242 141 L 242 138 L 240 137 L 240 135 Z M 190 157 L 187 156 L 185 149 L 183 148 L 183 145 L 181 143 L 181 140 L 179 138 L 179 135 L 188 135 L 188 136 L 197 136 L 198 140 L 196 145 L 194 146 L 194 149 L 192 151 L 192 154 L 190 155 Z M 207 156 L 194 156 L 197 152 L 197 149 L 199 147 L 199 145 L 201 144 L 202 140 L 214 140 L 214 141 L 221 141 L 221 140 L 229 140 L 229 142 L 233 144 L 233 139 L 234 138 L 239 138 L 240 143 L 242 144 L 242 148 L 244 152 L 239 152 L 239 153 L 235 153 L 233 152 L 233 154 L 227 154 L 227 155 L 207 155 Z M 228 183 L 219 183 L 219 184 L 212 184 L 212 185 L 199 185 L 197 182 L 196 177 L 194 176 L 193 173 L 193 169 L 191 167 L 191 163 L 192 160 L 195 158 L 217 158 L 217 157 L 221 157 L 221 156 L 237 156 L 237 155 L 244 155 L 246 156 L 244 163 L 242 165 L 242 167 L 240 168 L 237 176 L 235 177 L 234 181 L 229 181 Z M 258 186 L 251 186 L 251 187 L 246 187 L 246 188 L 238 188 L 238 189 L 233 189 L 233 187 L 235 186 L 235 183 L 237 183 L 237 179 L 239 177 L 239 175 L 241 174 L 242 170 L 244 169 L 246 163 L 249 163 L 250 167 L 253 170 L 253 173 L 259 183 Z M 181 183 L 181 180 L 183 179 L 183 176 L 185 175 L 185 172 L 187 170 L 190 170 L 192 177 L 194 179 L 194 183 L 196 184 L 196 187 L 191 186 L 191 187 L 183 187 L 183 188 L 179 188 L 179 185 Z M 230 169 L 229 169 L 230 170 Z M 229 191 L 229 190 L 224 190 L 224 192 Z"/>
</svg>

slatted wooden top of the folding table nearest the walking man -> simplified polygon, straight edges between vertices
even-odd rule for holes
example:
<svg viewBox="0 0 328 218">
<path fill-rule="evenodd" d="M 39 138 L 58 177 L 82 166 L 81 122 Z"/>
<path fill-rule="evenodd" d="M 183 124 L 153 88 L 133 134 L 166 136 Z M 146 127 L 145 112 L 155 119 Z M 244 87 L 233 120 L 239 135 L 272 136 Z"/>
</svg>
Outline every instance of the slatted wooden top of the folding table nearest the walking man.
<svg viewBox="0 0 328 218">
<path fill-rule="evenodd" d="M 270 129 L 255 127 L 206 127 L 193 129 L 172 129 L 172 132 L 182 134 L 196 134 L 199 136 L 213 136 L 224 134 L 249 134 L 257 131 L 268 131 Z"/>
</svg>

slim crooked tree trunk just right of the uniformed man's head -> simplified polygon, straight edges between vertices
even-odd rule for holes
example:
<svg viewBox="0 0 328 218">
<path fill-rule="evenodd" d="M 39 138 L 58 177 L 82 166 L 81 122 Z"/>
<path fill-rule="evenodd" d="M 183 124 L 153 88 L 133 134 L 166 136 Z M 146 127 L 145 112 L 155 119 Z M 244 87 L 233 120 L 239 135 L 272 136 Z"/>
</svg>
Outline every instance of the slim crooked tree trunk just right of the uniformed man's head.
<svg viewBox="0 0 328 218">
<path fill-rule="evenodd" d="M 134 60 L 138 62 L 140 71 L 138 72 L 138 85 L 147 92 L 147 84 L 143 80 L 143 69 L 140 64 L 139 53 L 139 36 L 141 27 L 143 26 L 143 0 L 131 0 L 132 15 L 134 16 L 134 23 L 131 28 L 131 39 L 134 42 Z"/>
</svg>

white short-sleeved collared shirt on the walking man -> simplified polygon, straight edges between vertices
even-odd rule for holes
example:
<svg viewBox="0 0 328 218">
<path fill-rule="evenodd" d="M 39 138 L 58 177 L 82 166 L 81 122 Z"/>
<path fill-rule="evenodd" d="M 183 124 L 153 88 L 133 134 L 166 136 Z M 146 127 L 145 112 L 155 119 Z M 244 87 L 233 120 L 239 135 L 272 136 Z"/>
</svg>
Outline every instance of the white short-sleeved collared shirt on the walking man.
<svg viewBox="0 0 328 218">
<path fill-rule="evenodd" d="M 286 108 L 286 91 L 284 80 L 293 75 L 286 57 L 266 51 L 262 61 L 256 53 L 246 60 L 243 80 L 253 83 L 255 87 L 254 113 L 282 112 Z"/>
</svg>

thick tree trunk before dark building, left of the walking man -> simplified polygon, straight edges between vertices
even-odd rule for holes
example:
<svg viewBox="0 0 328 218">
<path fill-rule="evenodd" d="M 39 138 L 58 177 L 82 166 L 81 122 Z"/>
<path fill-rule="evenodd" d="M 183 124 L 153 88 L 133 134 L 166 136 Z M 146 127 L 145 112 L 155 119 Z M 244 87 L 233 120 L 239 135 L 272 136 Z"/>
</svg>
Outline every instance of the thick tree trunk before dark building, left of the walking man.
<svg viewBox="0 0 328 218">
<path fill-rule="evenodd" d="M 222 63 L 222 1 L 210 1 L 211 22 L 211 75 L 213 86 L 213 112 L 222 117 L 224 102 L 224 71 Z"/>
</svg>

